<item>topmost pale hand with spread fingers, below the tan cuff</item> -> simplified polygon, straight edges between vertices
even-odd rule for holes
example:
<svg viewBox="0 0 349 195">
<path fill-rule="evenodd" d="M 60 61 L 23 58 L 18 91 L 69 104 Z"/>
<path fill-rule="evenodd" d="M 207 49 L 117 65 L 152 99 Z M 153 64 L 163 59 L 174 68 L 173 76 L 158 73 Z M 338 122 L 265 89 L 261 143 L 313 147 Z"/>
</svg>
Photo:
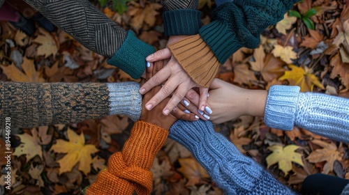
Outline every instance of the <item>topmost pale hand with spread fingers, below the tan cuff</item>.
<svg viewBox="0 0 349 195">
<path fill-rule="evenodd" d="M 140 93 L 144 94 L 147 93 L 147 91 L 149 91 L 151 88 L 154 88 L 154 86 L 162 84 L 167 79 L 161 90 L 156 93 L 156 95 L 154 95 L 149 102 L 147 102 L 146 108 L 151 110 L 157 104 L 159 104 L 159 102 L 174 92 L 172 98 L 163 109 L 163 114 L 168 115 L 170 114 L 170 111 L 172 111 L 172 109 L 174 109 L 174 107 L 176 107 L 177 104 L 183 100 L 184 96 L 191 88 L 198 87 L 200 91 L 199 108 L 201 111 L 205 111 L 205 106 L 207 106 L 206 101 L 208 89 L 199 86 L 195 83 L 195 81 L 193 81 L 193 79 L 191 79 L 191 77 L 189 77 L 185 70 L 181 68 L 181 65 L 179 65 L 177 59 L 172 56 L 170 49 L 161 49 L 158 52 L 151 54 L 147 57 L 147 61 L 154 62 L 161 59 L 168 59 L 170 57 L 171 59 L 165 68 L 157 72 L 154 77 L 151 77 L 151 79 L 149 79 L 149 81 L 147 81 L 140 88 Z"/>
</svg>

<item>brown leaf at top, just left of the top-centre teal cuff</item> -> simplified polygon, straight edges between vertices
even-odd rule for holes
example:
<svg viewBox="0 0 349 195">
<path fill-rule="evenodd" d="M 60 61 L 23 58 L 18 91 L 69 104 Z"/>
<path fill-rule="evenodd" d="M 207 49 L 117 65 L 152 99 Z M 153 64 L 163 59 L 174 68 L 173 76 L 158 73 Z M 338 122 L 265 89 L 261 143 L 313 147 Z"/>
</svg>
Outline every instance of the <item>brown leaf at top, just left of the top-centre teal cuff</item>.
<svg viewBox="0 0 349 195">
<path fill-rule="evenodd" d="M 128 15 L 133 16 L 130 25 L 138 33 L 142 29 L 143 24 L 148 24 L 149 26 L 154 26 L 156 22 L 156 15 L 159 13 L 156 11 L 163 6 L 159 3 L 146 2 L 145 7 L 142 8 L 140 3 L 131 1 L 131 5 L 128 7 Z"/>
</svg>

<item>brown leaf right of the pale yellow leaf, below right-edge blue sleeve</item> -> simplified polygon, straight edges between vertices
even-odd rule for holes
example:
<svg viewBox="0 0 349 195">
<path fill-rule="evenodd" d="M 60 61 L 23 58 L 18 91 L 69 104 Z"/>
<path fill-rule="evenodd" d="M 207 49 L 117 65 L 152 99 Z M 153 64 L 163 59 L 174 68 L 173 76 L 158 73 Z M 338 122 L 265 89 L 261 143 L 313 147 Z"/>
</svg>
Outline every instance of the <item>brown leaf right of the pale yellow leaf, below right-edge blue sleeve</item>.
<svg viewBox="0 0 349 195">
<path fill-rule="evenodd" d="M 309 162 L 325 162 L 325 165 L 322 169 L 322 173 L 328 174 L 329 172 L 333 171 L 333 163 L 337 159 L 339 161 L 343 158 L 343 153 L 339 151 L 339 148 L 337 148 L 336 144 L 331 142 L 327 143 L 325 141 L 320 141 L 318 139 L 315 139 L 311 141 L 312 143 L 315 143 L 318 146 L 321 146 L 322 149 L 316 149 L 311 152 L 311 154 L 306 158 L 309 160 Z"/>
</svg>

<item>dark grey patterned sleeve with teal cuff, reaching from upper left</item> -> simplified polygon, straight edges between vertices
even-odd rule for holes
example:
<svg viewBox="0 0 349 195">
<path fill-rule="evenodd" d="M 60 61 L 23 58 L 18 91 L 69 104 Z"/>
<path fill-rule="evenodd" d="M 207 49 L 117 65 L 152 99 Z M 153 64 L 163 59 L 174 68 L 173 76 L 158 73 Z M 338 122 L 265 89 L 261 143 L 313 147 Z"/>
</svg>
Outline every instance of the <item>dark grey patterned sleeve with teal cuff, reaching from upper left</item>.
<svg viewBox="0 0 349 195">
<path fill-rule="evenodd" d="M 107 63 L 134 79 L 144 72 L 145 58 L 155 52 L 154 47 L 122 29 L 87 0 L 24 1 L 91 51 L 110 58 Z"/>
</svg>

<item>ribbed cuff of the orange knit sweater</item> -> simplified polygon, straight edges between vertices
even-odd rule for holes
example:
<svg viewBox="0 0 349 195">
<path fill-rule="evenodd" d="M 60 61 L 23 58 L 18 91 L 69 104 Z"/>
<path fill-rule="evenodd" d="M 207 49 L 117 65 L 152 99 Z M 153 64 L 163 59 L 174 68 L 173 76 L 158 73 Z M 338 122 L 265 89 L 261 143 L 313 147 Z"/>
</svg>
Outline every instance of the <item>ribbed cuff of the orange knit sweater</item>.
<svg viewBox="0 0 349 195">
<path fill-rule="evenodd" d="M 167 137 L 168 131 L 157 125 L 136 122 L 122 150 L 126 164 L 149 170 Z"/>
</svg>

